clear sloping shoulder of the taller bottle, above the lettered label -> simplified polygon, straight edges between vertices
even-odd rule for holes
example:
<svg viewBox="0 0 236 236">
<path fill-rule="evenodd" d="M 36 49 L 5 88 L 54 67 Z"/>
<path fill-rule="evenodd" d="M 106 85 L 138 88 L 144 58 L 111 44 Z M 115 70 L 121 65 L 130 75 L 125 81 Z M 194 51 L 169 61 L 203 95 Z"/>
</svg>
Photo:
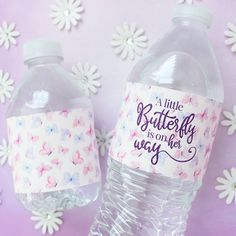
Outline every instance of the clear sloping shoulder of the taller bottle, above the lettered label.
<svg viewBox="0 0 236 236">
<path fill-rule="evenodd" d="M 174 28 L 154 44 L 132 70 L 130 81 L 189 91 L 220 102 L 224 99 L 207 33 L 189 27 Z"/>
</svg>

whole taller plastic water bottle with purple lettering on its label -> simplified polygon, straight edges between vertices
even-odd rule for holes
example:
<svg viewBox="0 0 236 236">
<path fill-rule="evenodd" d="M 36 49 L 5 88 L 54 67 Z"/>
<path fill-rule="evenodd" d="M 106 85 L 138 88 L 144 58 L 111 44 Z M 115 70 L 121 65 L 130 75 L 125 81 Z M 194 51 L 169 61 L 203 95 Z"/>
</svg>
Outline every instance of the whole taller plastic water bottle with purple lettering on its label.
<svg viewBox="0 0 236 236">
<path fill-rule="evenodd" d="M 177 6 L 171 30 L 133 69 L 90 235 L 184 235 L 224 97 L 210 22 L 205 8 Z"/>
</svg>

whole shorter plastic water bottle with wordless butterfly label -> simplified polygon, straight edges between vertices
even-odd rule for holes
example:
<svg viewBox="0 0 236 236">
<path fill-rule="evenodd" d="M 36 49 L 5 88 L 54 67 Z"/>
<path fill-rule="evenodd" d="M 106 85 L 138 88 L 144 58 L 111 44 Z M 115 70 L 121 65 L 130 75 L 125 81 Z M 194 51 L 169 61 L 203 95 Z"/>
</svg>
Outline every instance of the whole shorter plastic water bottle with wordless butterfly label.
<svg viewBox="0 0 236 236">
<path fill-rule="evenodd" d="M 101 185 L 92 104 L 61 66 L 60 44 L 33 40 L 23 56 L 7 112 L 15 192 L 30 211 L 87 205 Z"/>
</svg>

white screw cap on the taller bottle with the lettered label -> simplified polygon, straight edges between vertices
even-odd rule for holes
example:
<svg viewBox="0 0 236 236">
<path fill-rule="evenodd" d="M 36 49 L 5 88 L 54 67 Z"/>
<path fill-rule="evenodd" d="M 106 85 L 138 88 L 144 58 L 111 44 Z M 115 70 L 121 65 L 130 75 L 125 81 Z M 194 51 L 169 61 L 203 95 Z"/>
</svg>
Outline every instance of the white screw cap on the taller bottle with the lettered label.
<svg viewBox="0 0 236 236">
<path fill-rule="evenodd" d="M 173 19 L 186 17 L 201 21 L 207 27 L 210 27 L 212 13 L 205 7 L 194 4 L 178 4 L 174 9 Z"/>
</svg>

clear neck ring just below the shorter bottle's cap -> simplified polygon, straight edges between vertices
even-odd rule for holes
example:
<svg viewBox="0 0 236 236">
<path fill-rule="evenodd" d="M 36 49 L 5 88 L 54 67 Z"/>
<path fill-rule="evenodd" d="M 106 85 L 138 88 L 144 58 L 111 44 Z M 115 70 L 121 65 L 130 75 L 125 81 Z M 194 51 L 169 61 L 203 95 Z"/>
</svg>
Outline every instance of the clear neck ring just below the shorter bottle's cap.
<svg viewBox="0 0 236 236">
<path fill-rule="evenodd" d="M 48 57 L 37 57 L 27 60 L 25 64 L 29 67 L 49 65 L 49 64 L 60 64 L 63 59 L 61 57 L 48 56 Z"/>
</svg>

